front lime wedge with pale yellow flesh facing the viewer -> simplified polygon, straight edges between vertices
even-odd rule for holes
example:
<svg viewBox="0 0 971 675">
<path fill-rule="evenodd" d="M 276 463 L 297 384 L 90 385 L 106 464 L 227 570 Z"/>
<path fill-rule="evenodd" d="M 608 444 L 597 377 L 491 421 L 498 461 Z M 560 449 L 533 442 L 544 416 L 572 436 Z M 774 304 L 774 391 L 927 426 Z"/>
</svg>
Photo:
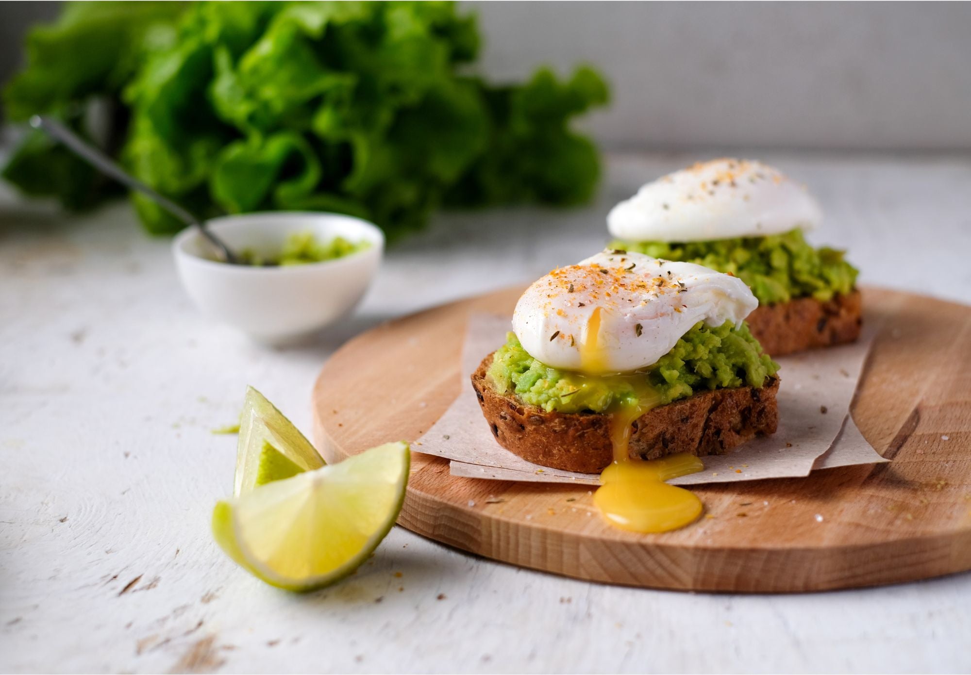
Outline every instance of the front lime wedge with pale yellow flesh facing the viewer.
<svg viewBox="0 0 971 675">
<path fill-rule="evenodd" d="M 275 480 L 218 502 L 213 534 L 230 558 L 272 586 L 328 586 L 367 560 L 394 525 L 410 464 L 407 443 L 385 443 Z"/>
</svg>

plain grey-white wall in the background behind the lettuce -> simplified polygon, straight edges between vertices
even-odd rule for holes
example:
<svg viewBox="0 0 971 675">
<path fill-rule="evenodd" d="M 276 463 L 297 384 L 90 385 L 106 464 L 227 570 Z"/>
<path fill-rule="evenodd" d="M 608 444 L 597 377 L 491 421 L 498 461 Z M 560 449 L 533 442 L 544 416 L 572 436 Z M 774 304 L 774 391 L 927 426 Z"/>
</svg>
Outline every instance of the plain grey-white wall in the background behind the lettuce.
<svg viewBox="0 0 971 675">
<path fill-rule="evenodd" d="M 55 3 L 0 3 L 0 80 Z M 608 147 L 971 149 L 969 3 L 464 2 L 501 79 L 596 64 Z"/>
</svg>

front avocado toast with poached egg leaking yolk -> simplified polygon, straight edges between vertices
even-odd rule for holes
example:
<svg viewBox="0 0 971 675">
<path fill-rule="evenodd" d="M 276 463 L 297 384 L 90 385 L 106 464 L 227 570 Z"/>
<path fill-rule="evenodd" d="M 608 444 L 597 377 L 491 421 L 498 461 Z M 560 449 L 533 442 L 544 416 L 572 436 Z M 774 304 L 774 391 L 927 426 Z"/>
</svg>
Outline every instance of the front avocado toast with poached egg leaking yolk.
<svg viewBox="0 0 971 675">
<path fill-rule="evenodd" d="M 778 366 L 739 279 L 607 250 L 523 294 L 472 385 L 500 445 L 535 464 L 721 454 L 778 422 Z"/>
</svg>

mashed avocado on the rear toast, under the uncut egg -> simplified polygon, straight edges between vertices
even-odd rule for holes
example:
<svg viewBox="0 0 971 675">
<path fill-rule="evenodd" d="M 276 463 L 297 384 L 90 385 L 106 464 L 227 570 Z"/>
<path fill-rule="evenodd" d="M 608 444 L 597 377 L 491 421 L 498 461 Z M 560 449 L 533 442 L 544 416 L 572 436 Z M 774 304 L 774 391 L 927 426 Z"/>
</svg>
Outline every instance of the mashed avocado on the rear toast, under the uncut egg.
<svg viewBox="0 0 971 675">
<path fill-rule="evenodd" d="M 612 241 L 610 245 L 733 273 L 749 284 L 760 305 L 805 296 L 825 302 L 853 290 L 858 273 L 843 260 L 843 251 L 814 248 L 798 229 L 768 237 L 686 243 Z"/>
</svg>

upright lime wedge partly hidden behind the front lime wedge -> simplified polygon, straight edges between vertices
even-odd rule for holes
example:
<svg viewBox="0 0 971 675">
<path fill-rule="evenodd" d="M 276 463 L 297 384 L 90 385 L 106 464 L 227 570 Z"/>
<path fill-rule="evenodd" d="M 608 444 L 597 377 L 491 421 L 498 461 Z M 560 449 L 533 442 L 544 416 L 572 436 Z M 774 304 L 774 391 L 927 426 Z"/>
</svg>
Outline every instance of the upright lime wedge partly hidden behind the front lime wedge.
<svg viewBox="0 0 971 675">
<path fill-rule="evenodd" d="M 276 454 L 269 453 L 267 447 Z M 273 403 L 252 387 L 248 388 L 240 414 L 233 495 L 240 497 L 264 483 L 323 465 L 304 434 Z"/>
</svg>

